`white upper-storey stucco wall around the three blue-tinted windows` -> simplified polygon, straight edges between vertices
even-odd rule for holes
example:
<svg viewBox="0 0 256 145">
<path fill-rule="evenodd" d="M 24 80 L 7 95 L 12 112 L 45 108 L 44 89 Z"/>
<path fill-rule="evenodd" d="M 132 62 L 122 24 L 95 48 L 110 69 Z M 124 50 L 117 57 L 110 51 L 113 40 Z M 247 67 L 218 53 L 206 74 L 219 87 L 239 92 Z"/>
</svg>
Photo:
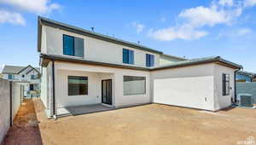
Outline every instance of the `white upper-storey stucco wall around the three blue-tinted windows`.
<svg viewBox="0 0 256 145">
<path fill-rule="evenodd" d="M 159 65 L 160 55 L 158 54 L 126 47 L 119 44 L 109 43 L 100 39 L 86 37 L 84 35 L 63 31 L 49 26 L 43 26 L 42 35 L 43 38 L 45 37 L 44 35 L 46 35 L 46 39 L 44 40 L 42 38 L 42 53 L 47 53 L 49 55 L 63 55 L 63 34 L 77 38 L 84 38 L 84 60 L 123 64 L 124 48 L 134 50 L 134 65 L 131 66 L 146 67 L 146 54 L 154 55 L 155 67 Z"/>
</svg>

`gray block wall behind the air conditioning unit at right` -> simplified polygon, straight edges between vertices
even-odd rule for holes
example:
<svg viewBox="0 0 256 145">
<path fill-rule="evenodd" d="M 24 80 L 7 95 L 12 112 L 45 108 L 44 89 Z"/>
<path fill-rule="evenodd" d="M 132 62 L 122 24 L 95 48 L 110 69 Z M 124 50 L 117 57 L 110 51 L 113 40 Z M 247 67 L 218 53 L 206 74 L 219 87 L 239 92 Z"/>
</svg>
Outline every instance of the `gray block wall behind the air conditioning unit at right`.
<svg viewBox="0 0 256 145">
<path fill-rule="evenodd" d="M 236 83 L 236 95 L 240 93 L 253 95 L 254 103 L 256 103 L 256 82 Z"/>
</svg>

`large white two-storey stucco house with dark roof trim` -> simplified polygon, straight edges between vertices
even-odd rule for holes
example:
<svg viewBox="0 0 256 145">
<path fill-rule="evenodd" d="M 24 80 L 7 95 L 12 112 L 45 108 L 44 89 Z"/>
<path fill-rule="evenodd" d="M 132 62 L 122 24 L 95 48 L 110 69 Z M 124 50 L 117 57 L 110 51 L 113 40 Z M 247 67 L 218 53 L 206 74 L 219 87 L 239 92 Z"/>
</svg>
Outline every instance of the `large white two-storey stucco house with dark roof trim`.
<svg viewBox="0 0 256 145">
<path fill-rule="evenodd" d="M 219 56 L 186 60 L 38 17 L 41 100 L 49 116 L 68 107 L 162 103 L 210 111 L 230 107 L 235 71 Z M 61 110 L 65 110 L 61 112 Z"/>
</svg>

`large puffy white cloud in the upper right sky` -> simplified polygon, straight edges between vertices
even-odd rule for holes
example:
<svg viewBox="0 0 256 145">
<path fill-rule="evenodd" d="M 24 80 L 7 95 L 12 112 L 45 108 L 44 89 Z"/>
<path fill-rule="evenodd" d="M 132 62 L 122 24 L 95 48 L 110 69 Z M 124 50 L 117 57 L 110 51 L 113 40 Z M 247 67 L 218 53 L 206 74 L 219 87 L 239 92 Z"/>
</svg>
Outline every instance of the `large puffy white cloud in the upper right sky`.
<svg viewBox="0 0 256 145">
<path fill-rule="evenodd" d="M 243 4 L 247 1 L 250 1 L 250 5 L 253 5 L 254 1 L 256 4 L 256 0 L 244 0 L 242 3 L 233 0 L 213 0 L 209 7 L 199 6 L 184 9 L 177 15 L 179 24 L 159 30 L 151 29 L 148 34 L 151 38 L 161 41 L 177 38 L 193 40 L 205 37 L 209 32 L 201 29 L 206 26 L 233 25 L 234 21 L 241 16 L 244 9 Z M 243 31 L 245 32 L 245 30 Z"/>
</svg>

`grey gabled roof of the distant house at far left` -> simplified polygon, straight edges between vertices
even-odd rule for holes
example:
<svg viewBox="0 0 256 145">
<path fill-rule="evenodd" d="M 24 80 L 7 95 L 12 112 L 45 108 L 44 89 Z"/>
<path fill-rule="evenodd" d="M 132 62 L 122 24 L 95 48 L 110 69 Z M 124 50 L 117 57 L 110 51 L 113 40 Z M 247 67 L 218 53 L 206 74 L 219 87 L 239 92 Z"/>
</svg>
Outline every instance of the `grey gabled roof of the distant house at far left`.
<svg viewBox="0 0 256 145">
<path fill-rule="evenodd" d="M 32 67 L 30 65 L 26 66 L 26 67 Z M 24 69 L 26 69 L 26 67 L 22 67 L 22 66 L 4 66 L 3 67 L 3 71 L 2 73 L 12 73 L 12 74 L 18 74 L 20 72 L 22 72 Z M 38 71 L 38 73 L 40 72 L 40 68 L 39 67 L 32 67 L 34 68 L 36 71 Z"/>
</svg>

